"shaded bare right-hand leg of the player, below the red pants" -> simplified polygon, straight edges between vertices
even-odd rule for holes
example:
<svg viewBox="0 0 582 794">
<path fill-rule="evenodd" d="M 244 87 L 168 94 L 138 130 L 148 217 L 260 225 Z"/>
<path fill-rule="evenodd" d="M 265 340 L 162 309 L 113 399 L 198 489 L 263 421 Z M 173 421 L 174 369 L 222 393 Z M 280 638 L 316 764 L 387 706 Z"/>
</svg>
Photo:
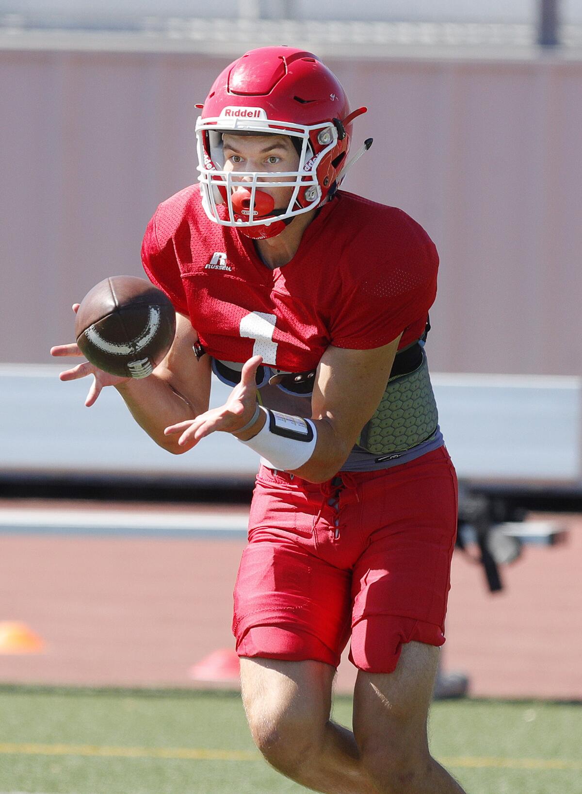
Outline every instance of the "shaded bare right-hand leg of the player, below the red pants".
<svg viewBox="0 0 582 794">
<path fill-rule="evenodd" d="M 463 794 L 429 752 L 426 719 L 438 653 L 409 642 L 393 673 L 358 673 L 353 729 L 361 764 L 380 794 Z"/>
</svg>

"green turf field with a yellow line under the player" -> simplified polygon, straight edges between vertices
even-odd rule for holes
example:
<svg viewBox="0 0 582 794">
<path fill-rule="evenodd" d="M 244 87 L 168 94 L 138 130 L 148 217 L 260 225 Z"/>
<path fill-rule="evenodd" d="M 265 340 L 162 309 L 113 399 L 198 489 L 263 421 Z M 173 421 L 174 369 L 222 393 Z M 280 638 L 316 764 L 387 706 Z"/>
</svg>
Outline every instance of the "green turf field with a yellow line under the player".
<svg viewBox="0 0 582 794">
<path fill-rule="evenodd" d="M 582 794 L 579 704 L 435 703 L 430 731 L 469 794 Z M 237 695 L 0 688 L 0 794 L 304 791 L 261 760 Z"/>
</svg>

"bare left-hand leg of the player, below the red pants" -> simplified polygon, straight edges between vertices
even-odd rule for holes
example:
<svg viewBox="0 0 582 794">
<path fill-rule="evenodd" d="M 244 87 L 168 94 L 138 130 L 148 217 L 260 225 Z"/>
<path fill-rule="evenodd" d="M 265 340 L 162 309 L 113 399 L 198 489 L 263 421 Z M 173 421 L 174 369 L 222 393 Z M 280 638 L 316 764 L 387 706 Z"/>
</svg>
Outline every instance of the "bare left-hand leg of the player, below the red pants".
<svg viewBox="0 0 582 794">
<path fill-rule="evenodd" d="M 335 669 L 321 661 L 241 658 L 256 746 L 279 772 L 329 794 L 377 794 L 353 733 L 330 720 Z"/>
</svg>

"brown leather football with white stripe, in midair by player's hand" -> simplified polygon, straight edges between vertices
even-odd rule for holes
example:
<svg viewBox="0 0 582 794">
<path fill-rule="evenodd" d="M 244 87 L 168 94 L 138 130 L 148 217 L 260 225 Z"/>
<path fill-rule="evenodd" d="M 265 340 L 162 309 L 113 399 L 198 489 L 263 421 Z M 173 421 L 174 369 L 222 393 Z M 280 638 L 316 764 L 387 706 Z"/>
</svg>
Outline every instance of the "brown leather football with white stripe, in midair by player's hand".
<svg viewBox="0 0 582 794">
<path fill-rule="evenodd" d="M 111 276 L 83 298 L 75 337 L 99 369 L 145 378 L 164 358 L 175 334 L 175 310 L 164 293 L 136 276 Z"/>
</svg>

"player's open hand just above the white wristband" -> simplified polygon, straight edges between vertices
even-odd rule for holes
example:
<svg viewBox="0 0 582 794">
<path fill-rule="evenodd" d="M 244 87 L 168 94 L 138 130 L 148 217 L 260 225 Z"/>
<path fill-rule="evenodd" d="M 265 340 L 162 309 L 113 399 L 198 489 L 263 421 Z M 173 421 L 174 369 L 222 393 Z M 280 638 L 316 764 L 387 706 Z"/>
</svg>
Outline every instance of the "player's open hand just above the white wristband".
<svg viewBox="0 0 582 794">
<path fill-rule="evenodd" d="M 241 371 L 241 382 L 229 394 L 229 399 L 220 408 L 211 408 L 199 414 L 195 419 L 179 422 L 164 430 L 167 436 L 180 434 L 178 445 L 183 449 L 192 449 L 201 438 L 222 430 L 224 433 L 236 433 L 252 419 L 256 410 L 256 370 L 262 364 L 262 357 L 253 356 L 245 363 Z"/>
</svg>

